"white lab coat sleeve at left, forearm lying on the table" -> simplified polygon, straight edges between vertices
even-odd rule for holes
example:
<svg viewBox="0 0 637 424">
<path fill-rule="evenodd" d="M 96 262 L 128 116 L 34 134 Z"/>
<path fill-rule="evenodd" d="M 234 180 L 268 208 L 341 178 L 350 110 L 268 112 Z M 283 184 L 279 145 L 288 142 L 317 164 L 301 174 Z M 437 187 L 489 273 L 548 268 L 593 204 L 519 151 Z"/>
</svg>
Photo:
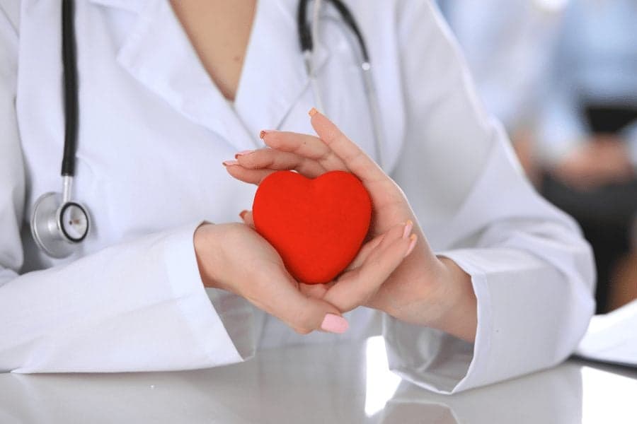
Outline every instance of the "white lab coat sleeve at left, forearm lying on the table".
<svg viewBox="0 0 637 424">
<path fill-rule="evenodd" d="M 120 372 L 242 360 L 234 299 L 202 284 L 200 223 L 18 275 L 25 170 L 16 123 L 18 33 L 0 5 L 0 372 Z M 215 309 L 216 308 L 216 309 Z M 249 344 L 249 343 L 248 343 Z M 250 353 L 244 351 L 246 355 Z"/>
</svg>

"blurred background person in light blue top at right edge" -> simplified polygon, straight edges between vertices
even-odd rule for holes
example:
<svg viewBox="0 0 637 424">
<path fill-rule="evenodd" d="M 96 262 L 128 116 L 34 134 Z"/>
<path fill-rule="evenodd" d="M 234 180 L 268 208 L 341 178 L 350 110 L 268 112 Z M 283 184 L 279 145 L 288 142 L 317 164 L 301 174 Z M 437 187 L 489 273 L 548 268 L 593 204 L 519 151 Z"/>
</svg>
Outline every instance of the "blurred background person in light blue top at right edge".
<svg viewBox="0 0 637 424">
<path fill-rule="evenodd" d="M 583 228 L 595 252 L 597 312 L 606 312 L 609 293 L 623 290 L 616 266 L 637 216 L 637 1 L 570 2 L 536 143 L 547 170 L 541 192 Z M 583 184 L 591 177 L 599 183 Z"/>
</svg>

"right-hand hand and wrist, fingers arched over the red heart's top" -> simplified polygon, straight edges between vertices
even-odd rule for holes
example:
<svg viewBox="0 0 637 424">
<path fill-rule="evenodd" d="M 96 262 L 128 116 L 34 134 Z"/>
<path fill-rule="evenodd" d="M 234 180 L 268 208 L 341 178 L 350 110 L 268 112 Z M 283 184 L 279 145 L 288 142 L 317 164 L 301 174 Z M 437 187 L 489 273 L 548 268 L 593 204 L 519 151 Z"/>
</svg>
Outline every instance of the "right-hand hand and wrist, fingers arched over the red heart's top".
<svg viewBox="0 0 637 424">
<path fill-rule="evenodd" d="M 238 153 L 236 161 L 224 163 L 226 169 L 233 177 L 253 184 L 276 170 L 297 170 L 311 178 L 331 170 L 349 171 L 361 180 L 372 198 L 372 242 L 397 222 L 417 223 L 400 187 L 371 158 L 316 110 L 311 111 L 311 123 L 319 138 L 262 131 L 261 137 L 270 148 Z M 307 292 L 341 311 L 367 305 L 402 321 L 432 326 L 473 341 L 477 316 L 471 278 L 450 259 L 436 257 L 417 224 L 413 232 L 421 240 L 413 254 L 380 285 L 370 285 L 368 290 L 357 288 L 357 293 L 369 293 L 367 299 L 352 295 L 351 288 L 340 281 L 338 285 L 307 288 Z M 365 255 L 363 250 L 361 255 Z M 352 264 L 355 266 L 356 261 Z"/>
</svg>

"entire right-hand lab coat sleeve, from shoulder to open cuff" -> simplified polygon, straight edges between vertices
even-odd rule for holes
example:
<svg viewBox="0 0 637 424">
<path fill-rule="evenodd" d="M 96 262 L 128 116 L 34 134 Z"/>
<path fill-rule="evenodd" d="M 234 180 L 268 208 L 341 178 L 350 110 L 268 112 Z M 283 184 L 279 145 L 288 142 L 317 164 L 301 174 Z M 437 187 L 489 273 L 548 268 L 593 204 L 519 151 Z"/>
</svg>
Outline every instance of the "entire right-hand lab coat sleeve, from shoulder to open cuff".
<svg viewBox="0 0 637 424">
<path fill-rule="evenodd" d="M 592 254 L 574 221 L 522 175 L 435 9 L 427 1 L 403 6 L 408 122 L 394 178 L 437 253 L 471 276 L 478 329 L 475 343 L 389 316 L 383 329 L 395 372 L 454 393 L 570 355 L 593 312 Z"/>
</svg>

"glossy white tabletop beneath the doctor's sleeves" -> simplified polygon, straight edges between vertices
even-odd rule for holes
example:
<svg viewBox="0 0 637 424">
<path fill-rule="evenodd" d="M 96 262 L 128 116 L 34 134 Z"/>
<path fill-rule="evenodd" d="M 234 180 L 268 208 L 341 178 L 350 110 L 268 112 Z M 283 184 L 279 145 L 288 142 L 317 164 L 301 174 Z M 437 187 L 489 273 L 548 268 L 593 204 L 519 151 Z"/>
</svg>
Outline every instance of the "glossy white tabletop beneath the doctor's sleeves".
<svg viewBox="0 0 637 424">
<path fill-rule="evenodd" d="M 210 370 L 0 375 L 0 423 L 637 423 L 637 370 L 569 360 L 442 396 L 387 370 L 384 343 L 294 346 Z"/>
</svg>

